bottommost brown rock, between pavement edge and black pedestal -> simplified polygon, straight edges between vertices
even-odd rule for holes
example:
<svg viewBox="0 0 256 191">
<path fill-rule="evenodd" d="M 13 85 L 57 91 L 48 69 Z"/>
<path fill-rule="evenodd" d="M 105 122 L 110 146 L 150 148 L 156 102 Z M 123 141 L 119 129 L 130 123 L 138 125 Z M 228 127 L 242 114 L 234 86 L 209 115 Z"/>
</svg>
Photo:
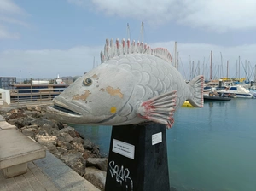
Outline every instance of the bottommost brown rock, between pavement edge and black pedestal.
<svg viewBox="0 0 256 191">
<path fill-rule="evenodd" d="M 86 168 L 86 173 L 84 178 L 88 180 L 90 183 L 99 188 L 100 190 L 104 190 L 105 182 L 106 182 L 107 173 L 105 171 L 98 170 L 96 168 L 90 167 Z"/>
</svg>

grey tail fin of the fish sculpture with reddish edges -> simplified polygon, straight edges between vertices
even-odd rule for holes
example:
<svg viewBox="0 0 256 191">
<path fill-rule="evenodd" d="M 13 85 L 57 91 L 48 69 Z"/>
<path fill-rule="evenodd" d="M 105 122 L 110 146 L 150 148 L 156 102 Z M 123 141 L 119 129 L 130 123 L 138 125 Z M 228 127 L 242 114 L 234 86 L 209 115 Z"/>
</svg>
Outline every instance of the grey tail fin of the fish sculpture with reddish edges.
<svg viewBox="0 0 256 191">
<path fill-rule="evenodd" d="M 203 107 L 204 106 L 204 97 L 203 97 L 203 90 L 204 90 L 204 76 L 200 75 L 193 78 L 189 82 L 189 86 L 192 89 L 194 94 L 192 97 L 189 97 L 189 103 L 194 107 Z"/>
</svg>

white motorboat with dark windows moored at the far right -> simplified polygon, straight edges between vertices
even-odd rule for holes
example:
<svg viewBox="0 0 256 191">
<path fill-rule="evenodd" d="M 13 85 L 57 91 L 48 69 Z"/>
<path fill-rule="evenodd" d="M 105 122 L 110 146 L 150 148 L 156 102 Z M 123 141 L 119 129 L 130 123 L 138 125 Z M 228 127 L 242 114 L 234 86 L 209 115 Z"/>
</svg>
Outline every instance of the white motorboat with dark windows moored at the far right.
<svg viewBox="0 0 256 191">
<path fill-rule="evenodd" d="M 253 93 L 241 85 L 233 85 L 225 90 L 218 90 L 217 93 L 225 96 L 236 95 L 237 98 L 253 98 Z"/>
</svg>

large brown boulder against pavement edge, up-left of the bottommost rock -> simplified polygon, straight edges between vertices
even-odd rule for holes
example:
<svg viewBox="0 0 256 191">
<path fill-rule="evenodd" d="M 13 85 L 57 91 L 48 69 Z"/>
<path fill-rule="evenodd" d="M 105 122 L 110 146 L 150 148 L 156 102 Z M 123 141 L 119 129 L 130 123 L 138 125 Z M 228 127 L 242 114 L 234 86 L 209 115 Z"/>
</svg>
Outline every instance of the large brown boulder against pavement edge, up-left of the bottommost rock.
<svg viewBox="0 0 256 191">
<path fill-rule="evenodd" d="M 79 173 L 79 175 L 84 176 L 86 160 L 79 153 L 64 153 L 61 156 L 61 160 L 66 163 L 73 171 Z"/>
</svg>

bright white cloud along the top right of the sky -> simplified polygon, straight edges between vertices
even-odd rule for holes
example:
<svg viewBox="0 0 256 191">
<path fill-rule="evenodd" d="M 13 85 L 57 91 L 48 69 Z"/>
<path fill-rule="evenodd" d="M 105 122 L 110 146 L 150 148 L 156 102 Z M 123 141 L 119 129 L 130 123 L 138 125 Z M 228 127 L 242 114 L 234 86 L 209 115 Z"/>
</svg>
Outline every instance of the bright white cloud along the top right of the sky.
<svg viewBox="0 0 256 191">
<path fill-rule="evenodd" d="M 88 0 L 68 0 L 77 5 Z M 215 32 L 256 28 L 255 0 L 91 0 L 96 10 L 108 15 L 145 20 L 159 25 L 168 21 Z"/>
</svg>

